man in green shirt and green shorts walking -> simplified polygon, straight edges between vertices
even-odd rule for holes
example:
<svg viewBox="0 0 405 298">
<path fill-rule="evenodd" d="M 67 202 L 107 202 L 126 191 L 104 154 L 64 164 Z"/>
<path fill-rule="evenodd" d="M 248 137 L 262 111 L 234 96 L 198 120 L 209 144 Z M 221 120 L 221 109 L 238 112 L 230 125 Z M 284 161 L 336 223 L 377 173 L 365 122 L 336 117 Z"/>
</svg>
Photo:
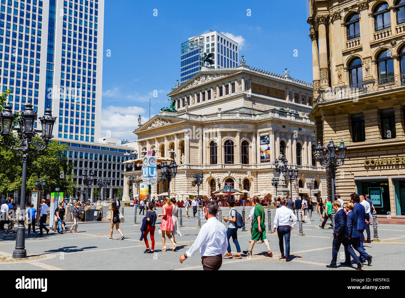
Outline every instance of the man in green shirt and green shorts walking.
<svg viewBox="0 0 405 298">
<path fill-rule="evenodd" d="M 267 253 L 265 257 L 273 257 L 273 253 L 270 249 L 269 241 L 266 238 L 266 225 L 264 224 L 264 208 L 259 204 L 260 199 L 257 195 L 253 197 L 254 215 L 253 215 L 253 229 L 252 229 L 252 241 L 250 242 L 250 249 L 243 251 L 245 255 L 252 255 L 253 247 L 256 241 L 263 240 L 267 247 Z"/>
</svg>

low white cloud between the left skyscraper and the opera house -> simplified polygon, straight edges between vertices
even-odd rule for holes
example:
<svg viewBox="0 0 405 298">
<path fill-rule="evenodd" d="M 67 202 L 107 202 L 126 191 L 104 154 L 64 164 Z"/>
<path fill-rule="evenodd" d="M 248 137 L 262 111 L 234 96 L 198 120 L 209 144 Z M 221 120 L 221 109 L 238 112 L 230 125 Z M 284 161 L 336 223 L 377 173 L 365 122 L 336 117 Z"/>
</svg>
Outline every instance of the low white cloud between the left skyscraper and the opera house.
<svg viewBox="0 0 405 298">
<path fill-rule="evenodd" d="M 101 110 L 101 135 L 111 131 L 111 137 L 134 139 L 132 132 L 138 128 L 138 116 L 141 115 L 141 123 L 149 120 L 149 114 L 146 116 L 145 113 L 146 110 L 142 107 L 110 105 Z"/>
</svg>

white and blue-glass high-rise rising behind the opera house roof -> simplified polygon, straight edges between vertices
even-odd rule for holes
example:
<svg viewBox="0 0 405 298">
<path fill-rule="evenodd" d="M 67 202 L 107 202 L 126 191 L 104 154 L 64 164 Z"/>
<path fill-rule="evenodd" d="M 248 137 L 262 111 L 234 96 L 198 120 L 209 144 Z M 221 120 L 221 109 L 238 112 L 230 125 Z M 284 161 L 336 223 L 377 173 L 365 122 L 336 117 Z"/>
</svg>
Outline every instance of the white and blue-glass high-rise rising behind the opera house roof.
<svg viewBox="0 0 405 298">
<path fill-rule="evenodd" d="M 213 53 L 213 68 L 238 66 L 239 44 L 224 34 L 213 31 L 190 37 L 180 46 L 180 84 L 196 75 L 203 66 L 204 53 Z M 205 62 L 209 66 L 208 62 Z"/>
</svg>

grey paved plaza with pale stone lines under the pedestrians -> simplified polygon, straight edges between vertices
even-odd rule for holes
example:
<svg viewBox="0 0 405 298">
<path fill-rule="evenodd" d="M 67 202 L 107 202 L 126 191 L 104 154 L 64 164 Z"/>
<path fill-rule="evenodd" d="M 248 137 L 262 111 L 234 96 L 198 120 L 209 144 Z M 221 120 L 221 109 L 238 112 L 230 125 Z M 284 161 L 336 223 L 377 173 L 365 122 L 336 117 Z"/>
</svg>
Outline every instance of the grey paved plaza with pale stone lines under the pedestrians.
<svg viewBox="0 0 405 298">
<path fill-rule="evenodd" d="M 241 212 L 242 207 L 237 207 Z M 250 207 L 246 208 L 248 211 Z M 222 215 L 228 216 L 228 208 L 222 208 Z M 162 208 L 157 208 L 158 213 Z M 184 209 L 183 209 L 184 211 Z M 267 212 L 267 210 L 265 209 Z M 272 220 L 275 210 L 271 209 Z M 192 215 L 192 210 L 189 210 Z M 199 229 L 198 218 L 185 218 L 183 212 L 183 227 L 180 228 L 182 237 L 176 237 L 177 251 L 162 252 L 161 235 L 158 234 L 161 217 L 156 222 L 155 252 L 144 254 L 145 242 L 140 241 L 140 227 L 142 216 L 137 215 L 138 224 L 134 224 L 134 208 L 125 207 L 126 222 L 120 225 L 125 236 L 119 240 L 119 234 L 114 230 L 113 240 L 109 237 L 109 222 L 79 223 L 79 233 L 63 235 L 52 231 L 45 236 L 26 235 L 27 259 L 13 260 L 11 255 L 15 246 L 15 234 L 0 234 L 0 270 L 202 270 L 199 253 L 189 257 L 180 264 L 179 257 L 187 251 L 194 242 Z M 201 221 L 201 225 L 206 222 Z M 328 221 L 329 223 L 330 221 Z M 327 223 L 325 229 L 320 229 L 319 214 L 315 212 L 312 221 L 303 225 L 305 236 L 299 236 L 298 223 L 292 230 L 291 252 L 292 261 L 287 263 L 279 259 L 277 234 L 267 233 L 271 251 L 274 257 L 264 257 L 266 247 L 256 244 L 251 257 L 242 259 L 224 259 L 220 270 L 354 270 L 353 266 L 339 266 L 338 269 L 328 269 L 332 250 L 332 228 Z M 67 227 L 72 224 L 68 223 Z M 267 225 L 267 219 L 266 219 Z M 225 223 L 228 227 L 228 223 Z M 247 229 L 250 227 L 247 225 Z M 267 228 L 266 228 L 267 231 Z M 367 253 L 373 256 L 372 266 L 364 266 L 364 270 L 402 270 L 405 266 L 405 226 L 378 225 L 379 242 L 365 244 Z M 371 229 L 371 239 L 373 230 Z M 242 250 L 249 247 L 250 232 L 238 231 L 238 240 Z M 150 237 L 148 236 L 149 245 Z M 170 240 L 166 239 L 166 247 L 170 247 Z M 231 242 L 232 253 L 235 246 Z M 339 262 L 344 262 L 343 246 L 339 251 Z"/>
</svg>

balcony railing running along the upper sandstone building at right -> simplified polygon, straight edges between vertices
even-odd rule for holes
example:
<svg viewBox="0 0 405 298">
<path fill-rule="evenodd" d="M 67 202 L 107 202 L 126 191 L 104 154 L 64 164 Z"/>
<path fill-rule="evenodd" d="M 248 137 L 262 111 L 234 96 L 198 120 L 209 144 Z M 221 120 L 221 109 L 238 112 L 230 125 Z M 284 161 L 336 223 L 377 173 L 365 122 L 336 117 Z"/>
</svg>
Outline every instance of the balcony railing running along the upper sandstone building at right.
<svg viewBox="0 0 405 298">
<path fill-rule="evenodd" d="M 388 77 L 363 81 L 360 84 L 333 88 L 322 91 L 315 99 L 314 104 L 334 99 L 358 99 L 360 95 L 401 88 L 405 86 L 405 73 L 390 75 Z"/>
</svg>

